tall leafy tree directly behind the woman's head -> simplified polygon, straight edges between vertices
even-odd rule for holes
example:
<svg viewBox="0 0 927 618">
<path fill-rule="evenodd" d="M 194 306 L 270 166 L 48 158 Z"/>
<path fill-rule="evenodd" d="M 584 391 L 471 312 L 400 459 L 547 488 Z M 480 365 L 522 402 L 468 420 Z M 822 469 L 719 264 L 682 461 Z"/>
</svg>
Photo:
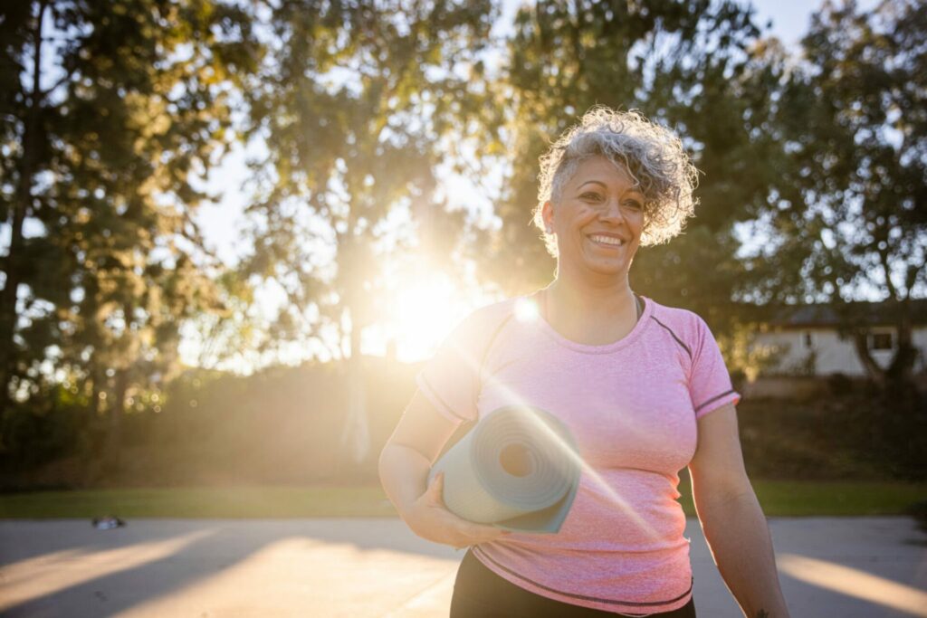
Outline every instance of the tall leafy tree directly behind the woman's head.
<svg viewBox="0 0 927 618">
<path fill-rule="evenodd" d="M 550 280 L 553 260 L 529 222 L 538 158 L 595 104 L 639 108 L 680 132 L 705 175 L 698 217 L 668 246 L 641 250 L 634 287 L 710 322 L 724 317 L 718 308 L 749 288 L 733 225 L 765 195 L 767 145 L 756 127 L 768 110 L 755 88 L 768 70 L 758 36 L 752 11 L 733 2 L 523 5 L 493 84 L 496 105 L 472 133 L 483 168 L 507 170 L 502 228 L 479 244 L 489 279 L 509 292 Z"/>
</svg>

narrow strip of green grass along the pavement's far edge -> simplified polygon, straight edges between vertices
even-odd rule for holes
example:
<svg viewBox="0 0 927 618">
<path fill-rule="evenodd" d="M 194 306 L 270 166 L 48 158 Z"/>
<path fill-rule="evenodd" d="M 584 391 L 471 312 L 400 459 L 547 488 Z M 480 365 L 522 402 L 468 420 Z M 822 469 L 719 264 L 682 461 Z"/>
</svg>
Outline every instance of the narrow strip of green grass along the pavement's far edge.
<svg viewBox="0 0 927 618">
<path fill-rule="evenodd" d="M 769 516 L 903 515 L 927 500 L 927 485 L 876 482 L 755 481 Z M 694 514 L 688 483 L 682 506 Z M 292 518 L 390 517 L 383 490 L 362 487 L 202 487 L 97 489 L 0 495 L 0 518 Z"/>
</svg>

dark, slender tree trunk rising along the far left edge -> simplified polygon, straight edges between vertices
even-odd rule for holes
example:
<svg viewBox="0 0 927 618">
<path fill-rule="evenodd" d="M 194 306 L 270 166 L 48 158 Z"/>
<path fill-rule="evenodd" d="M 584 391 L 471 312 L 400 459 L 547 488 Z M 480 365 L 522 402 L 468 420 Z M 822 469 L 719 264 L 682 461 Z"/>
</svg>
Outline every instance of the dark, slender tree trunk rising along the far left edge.
<svg viewBox="0 0 927 618">
<path fill-rule="evenodd" d="M 42 22 L 45 15 L 45 3 L 39 3 L 35 29 L 32 31 L 33 67 L 32 96 L 29 114 L 26 117 L 22 135 L 22 158 L 19 159 L 19 179 L 16 198 L 13 200 L 13 221 L 10 228 L 9 252 L 6 254 L 6 282 L 0 291 L 0 412 L 9 405 L 9 385 L 16 361 L 16 349 L 13 336 L 16 333 L 18 315 L 16 312 L 19 297 L 21 272 L 19 258 L 22 253 L 22 225 L 32 202 L 32 173 L 38 148 L 39 110 L 42 105 Z"/>
</svg>

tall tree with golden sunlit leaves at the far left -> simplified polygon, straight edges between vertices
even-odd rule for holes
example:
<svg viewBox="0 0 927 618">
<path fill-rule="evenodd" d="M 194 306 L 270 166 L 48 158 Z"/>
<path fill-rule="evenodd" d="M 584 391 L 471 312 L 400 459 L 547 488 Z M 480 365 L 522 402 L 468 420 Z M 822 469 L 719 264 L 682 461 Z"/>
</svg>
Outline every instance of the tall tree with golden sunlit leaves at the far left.
<svg viewBox="0 0 927 618">
<path fill-rule="evenodd" d="M 195 178 L 235 139 L 231 89 L 260 49 L 248 14 L 212 0 L 38 0 L 0 27 L 0 405 L 54 345 L 95 406 L 109 391 L 115 455 L 132 390 L 177 370 L 180 322 L 220 309 Z M 27 220 L 43 233 L 26 237 Z"/>
</svg>

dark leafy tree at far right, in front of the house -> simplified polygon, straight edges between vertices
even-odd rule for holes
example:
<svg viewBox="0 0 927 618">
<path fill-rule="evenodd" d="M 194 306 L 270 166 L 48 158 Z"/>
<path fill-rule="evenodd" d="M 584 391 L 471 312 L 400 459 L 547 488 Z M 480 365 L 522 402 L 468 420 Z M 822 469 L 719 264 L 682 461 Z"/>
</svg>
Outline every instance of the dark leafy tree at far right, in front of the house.
<svg viewBox="0 0 927 618">
<path fill-rule="evenodd" d="M 768 290 L 832 301 L 870 377 L 906 380 L 916 350 L 911 300 L 927 291 L 927 6 L 826 3 L 782 89 L 784 146 L 767 217 L 776 258 Z M 760 263 L 764 256 L 758 256 Z M 792 266 L 786 266 L 792 265 Z M 885 370 L 871 358 L 866 316 L 877 294 L 898 335 Z"/>
</svg>

